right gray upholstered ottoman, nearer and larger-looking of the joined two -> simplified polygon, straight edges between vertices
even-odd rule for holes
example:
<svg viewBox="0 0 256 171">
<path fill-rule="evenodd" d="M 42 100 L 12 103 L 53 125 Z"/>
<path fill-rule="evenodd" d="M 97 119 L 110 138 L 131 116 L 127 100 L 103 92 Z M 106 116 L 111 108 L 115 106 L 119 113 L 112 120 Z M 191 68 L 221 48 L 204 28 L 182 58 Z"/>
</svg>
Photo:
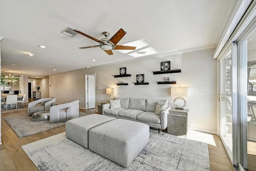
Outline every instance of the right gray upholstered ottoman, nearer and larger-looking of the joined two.
<svg viewBox="0 0 256 171">
<path fill-rule="evenodd" d="M 149 126 L 114 119 L 89 130 L 89 149 L 128 167 L 149 142 Z"/>
</svg>

